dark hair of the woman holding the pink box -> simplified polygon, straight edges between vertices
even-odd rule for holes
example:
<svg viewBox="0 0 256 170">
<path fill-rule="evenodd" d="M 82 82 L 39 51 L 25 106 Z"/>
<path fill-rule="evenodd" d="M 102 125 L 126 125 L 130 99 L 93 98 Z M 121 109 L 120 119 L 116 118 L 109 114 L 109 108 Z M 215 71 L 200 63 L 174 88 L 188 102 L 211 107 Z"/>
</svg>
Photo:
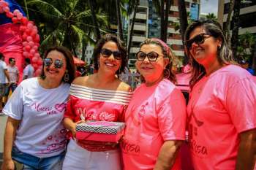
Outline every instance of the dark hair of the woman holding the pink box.
<svg viewBox="0 0 256 170">
<path fill-rule="evenodd" d="M 122 54 L 121 58 L 121 67 L 120 69 L 116 72 L 116 74 L 121 74 L 124 72 L 124 68 L 127 66 L 127 49 L 123 45 L 123 42 L 121 39 L 118 38 L 118 36 L 114 34 L 105 34 L 105 36 L 102 37 L 102 39 L 99 39 L 97 42 L 97 45 L 94 47 L 94 53 L 93 53 L 93 58 L 94 58 L 94 69 L 98 70 L 99 69 L 99 54 L 102 50 L 103 45 L 105 45 L 106 42 L 116 42 L 116 45 L 118 47 L 118 50 Z"/>
</svg>

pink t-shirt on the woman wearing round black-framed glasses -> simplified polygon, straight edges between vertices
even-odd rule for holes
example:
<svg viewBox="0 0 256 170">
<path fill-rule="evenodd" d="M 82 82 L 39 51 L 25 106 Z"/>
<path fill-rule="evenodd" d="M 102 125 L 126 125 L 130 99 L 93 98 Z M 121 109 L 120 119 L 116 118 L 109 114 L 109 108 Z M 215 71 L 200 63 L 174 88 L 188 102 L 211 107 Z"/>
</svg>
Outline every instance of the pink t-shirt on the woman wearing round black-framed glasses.
<svg viewBox="0 0 256 170">
<path fill-rule="evenodd" d="M 184 140 L 186 104 L 184 96 L 169 80 L 138 87 L 125 114 L 126 131 L 121 149 L 125 170 L 151 170 L 162 144 Z M 177 158 L 173 169 L 180 169 Z"/>
</svg>

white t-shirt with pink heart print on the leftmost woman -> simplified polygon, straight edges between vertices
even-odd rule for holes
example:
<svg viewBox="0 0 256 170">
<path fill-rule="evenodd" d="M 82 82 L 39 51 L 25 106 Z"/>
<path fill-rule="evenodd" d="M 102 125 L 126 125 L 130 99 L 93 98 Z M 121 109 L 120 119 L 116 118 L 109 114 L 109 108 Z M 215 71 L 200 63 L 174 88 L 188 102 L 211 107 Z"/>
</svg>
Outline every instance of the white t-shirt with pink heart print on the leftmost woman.
<svg viewBox="0 0 256 170">
<path fill-rule="evenodd" d="M 23 80 L 3 109 L 5 115 L 20 120 L 15 146 L 39 158 L 59 155 L 66 147 L 62 125 L 69 96 L 69 84 L 45 89 L 37 78 Z"/>
</svg>

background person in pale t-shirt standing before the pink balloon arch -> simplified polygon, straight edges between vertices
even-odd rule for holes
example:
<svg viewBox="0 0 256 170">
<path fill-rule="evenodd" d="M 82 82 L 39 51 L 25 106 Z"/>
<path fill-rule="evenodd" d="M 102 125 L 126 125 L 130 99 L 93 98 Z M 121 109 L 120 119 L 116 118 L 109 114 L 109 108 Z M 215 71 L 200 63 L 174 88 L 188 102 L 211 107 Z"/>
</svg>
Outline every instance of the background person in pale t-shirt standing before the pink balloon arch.
<svg viewBox="0 0 256 170">
<path fill-rule="evenodd" d="M 15 88 L 17 88 L 18 86 L 19 71 L 17 66 L 15 66 L 15 58 L 9 58 L 9 65 L 7 66 L 7 72 L 10 77 L 10 85 L 7 87 L 7 90 L 5 93 L 6 101 L 8 99 L 10 90 L 12 90 L 12 93 L 13 93 Z"/>
</svg>

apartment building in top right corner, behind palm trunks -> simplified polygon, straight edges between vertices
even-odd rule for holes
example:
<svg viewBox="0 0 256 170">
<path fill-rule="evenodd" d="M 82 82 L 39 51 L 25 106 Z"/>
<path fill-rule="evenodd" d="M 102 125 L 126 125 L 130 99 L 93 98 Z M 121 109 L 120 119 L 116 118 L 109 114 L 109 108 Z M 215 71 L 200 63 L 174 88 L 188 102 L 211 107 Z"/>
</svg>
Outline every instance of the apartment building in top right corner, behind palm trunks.
<svg viewBox="0 0 256 170">
<path fill-rule="evenodd" d="M 218 20 L 219 23 L 225 23 L 227 21 L 227 13 L 230 9 L 229 0 L 219 0 L 218 8 Z M 233 16 L 233 13 L 232 13 Z M 239 30 L 238 34 L 244 34 L 246 31 L 256 34 L 256 1 L 241 0 L 240 15 L 239 15 Z M 231 21 L 230 30 L 233 29 L 233 23 Z"/>
</svg>

